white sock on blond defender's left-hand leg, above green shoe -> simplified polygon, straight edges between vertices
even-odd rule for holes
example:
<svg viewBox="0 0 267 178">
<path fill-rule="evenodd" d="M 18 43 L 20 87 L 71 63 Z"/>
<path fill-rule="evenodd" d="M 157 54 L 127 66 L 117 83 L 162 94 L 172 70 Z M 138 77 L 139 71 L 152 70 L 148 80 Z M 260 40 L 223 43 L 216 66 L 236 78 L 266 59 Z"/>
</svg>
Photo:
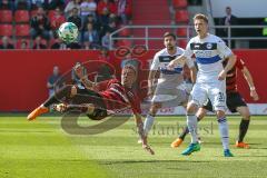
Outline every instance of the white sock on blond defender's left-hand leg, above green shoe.
<svg viewBox="0 0 267 178">
<path fill-rule="evenodd" d="M 191 144 L 198 142 L 196 115 L 187 115 L 187 127 L 189 132 L 191 134 Z"/>
</svg>

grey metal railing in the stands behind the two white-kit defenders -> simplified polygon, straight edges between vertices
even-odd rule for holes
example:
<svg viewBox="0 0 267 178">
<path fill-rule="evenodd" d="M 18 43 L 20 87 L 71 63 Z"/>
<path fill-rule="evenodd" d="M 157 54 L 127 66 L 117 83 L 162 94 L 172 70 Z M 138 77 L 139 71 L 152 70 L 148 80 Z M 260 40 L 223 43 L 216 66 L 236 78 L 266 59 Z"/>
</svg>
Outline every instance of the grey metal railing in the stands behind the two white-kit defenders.
<svg viewBox="0 0 267 178">
<path fill-rule="evenodd" d="M 110 49 L 115 48 L 115 41 L 117 40 L 144 40 L 145 41 L 145 46 L 149 49 L 149 41 L 150 40 L 162 40 L 162 37 L 151 37 L 150 36 L 150 31 L 152 29 L 172 29 L 172 31 L 175 32 L 177 29 L 179 28 L 186 28 L 186 36 L 185 37 L 178 37 L 179 39 L 186 39 L 187 41 L 194 37 L 195 33 L 195 29 L 194 26 L 125 26 L 116 31 L 113 31 L 110 34 Z M 267 28 L 267 26 L 211 26 L 209 27 L 209 29 L 222 29 L 225 31 L 227 31 L 227 36 L 226 37 L 220 37 L 221 39 L 224 39 L 225 41 L 227 41 L 229 48 L 231 48 L 231 41 L 233 40 L 267 40 L 267 37 L 234 37 L 231 36 L 233 30 L 235 29 L 244 29 L 244 30 L 249 30 L 249 29 L 263 29 L 263 28 Z M 128 29 L 129 31 L 132 31 L 131 34 L 129 37 L 119 37 L 120 31 Z M 144 30 L 145 36 L 144 37 L 135 37 L 135 30 L 139 29 L 139 30 Z M 168 30 L 169 31 L 169 30 Z"/>
</svg>

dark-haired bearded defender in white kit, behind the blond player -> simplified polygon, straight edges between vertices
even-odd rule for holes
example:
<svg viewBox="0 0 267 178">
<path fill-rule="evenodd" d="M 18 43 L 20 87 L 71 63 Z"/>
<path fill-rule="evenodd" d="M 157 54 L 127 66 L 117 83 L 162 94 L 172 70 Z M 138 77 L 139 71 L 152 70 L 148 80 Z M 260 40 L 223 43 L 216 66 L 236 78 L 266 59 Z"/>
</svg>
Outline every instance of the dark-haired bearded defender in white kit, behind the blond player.
<svg viewBox="0 0 267 178">
<path fill-rule="evenodd" d="M 176 66 L 174 70 L 167 69 L 167 65 L 182 55 L 184 49 L 176 46 L 176 36 L 170 32 L 164 34 L 164 43 L 166 48 L 155 55 L 148 78 L 148 96 L 151 98 L 151 106 L 144 125 L 147 136 L 160 108 L 186 107 L 190 89 L 186 90 L 181 87 L 185 65 L 190 69 L 192 82 L 196 79 L 196 68 L 191 58 L 186 59 L 185 63 Z M 158 79 L 156 79 L 157 72 L 160 73 Z"/>
</svg>

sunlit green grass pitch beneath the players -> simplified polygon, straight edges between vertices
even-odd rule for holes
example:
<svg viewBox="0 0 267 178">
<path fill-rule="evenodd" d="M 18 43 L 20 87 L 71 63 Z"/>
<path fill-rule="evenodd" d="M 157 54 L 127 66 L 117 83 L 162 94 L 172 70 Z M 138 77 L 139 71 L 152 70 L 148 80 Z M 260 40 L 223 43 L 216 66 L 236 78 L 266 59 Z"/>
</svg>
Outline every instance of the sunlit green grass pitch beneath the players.
<svg viewBox="0 0 267 178">
<path fill-rule="evenodd" d="M 185 157 L 170 142 L 185 125 L 184 117 L 157 118 L 148 155 L 137 144 L 134 121 L 96 136 L 71 136 L 60 127 L 60 117 L 0 117 L 0 178 L 96 177 L 267 177 L 267 117 L 253 117 L 246 137 L 250 149 L 234 148 L 239 117 L 228 117 L 234 158 L 222 157 L 218 126 L 212 117 L 201 122 L 201 150 Z M 92 125 L 82 118 L 81 125 Z"/>
</svg>

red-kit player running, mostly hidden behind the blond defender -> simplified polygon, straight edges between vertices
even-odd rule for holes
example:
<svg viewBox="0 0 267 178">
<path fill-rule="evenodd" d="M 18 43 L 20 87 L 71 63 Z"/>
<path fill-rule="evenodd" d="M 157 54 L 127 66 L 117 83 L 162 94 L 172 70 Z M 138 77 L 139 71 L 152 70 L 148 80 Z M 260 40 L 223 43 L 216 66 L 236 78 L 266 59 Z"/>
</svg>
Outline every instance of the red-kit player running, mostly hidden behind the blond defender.
<svg viewBox="0 0 267 178">
<path fill-rule="evenodd" d="M 227 62 L 227 59 L 224 61 L 224 66 Z M 247 107 L 247 103 L 245 102 L 244 98 L 240 96 L 240 93 L 237 90 L 237 69 L 240 70 L 250 88 L 250 97 L 257 101 L 259 99 L 258 93 L 256 91 L 256 88 L 254 86 L 253 77 L 247 69 L 245 62 L 241 59 L 236 60 L 235 66 L 227 72 L 226 77 L 226 95 L 227 95 L 227 107 L 231 112 L 239 112 L 241 115 L 241 121 L 239 125 L 239 136 L 236 141 L 237 148 L 249 148 L 249 145 L 244 142 L 244 138 L 247 134 L 249 121 L 250 121 L 250 112 Z M 198 121 L 201 120 L 207 111 L 214 111 L 210 100 L 207 100 L 207 103 L 199 108 L 197 112 Z M 188 128 L 184 129 L 181 135 L 171 144 L 172 148 L 179 147 L 181 142 L 184 141 L 186 135 L 188 134 Z"/>
</svg>

